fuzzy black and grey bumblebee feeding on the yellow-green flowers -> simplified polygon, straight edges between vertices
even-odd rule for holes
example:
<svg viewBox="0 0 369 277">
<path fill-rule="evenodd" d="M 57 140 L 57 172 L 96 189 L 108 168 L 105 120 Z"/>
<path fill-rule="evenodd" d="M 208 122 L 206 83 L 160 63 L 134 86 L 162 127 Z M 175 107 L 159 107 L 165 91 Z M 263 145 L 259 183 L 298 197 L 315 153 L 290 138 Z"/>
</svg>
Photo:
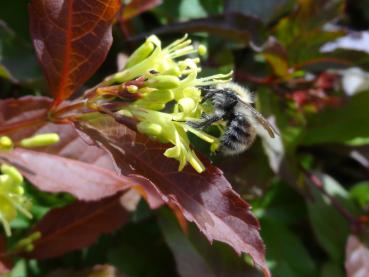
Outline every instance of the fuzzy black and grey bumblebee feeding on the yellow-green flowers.
<svg viewBox="0 0 369 277">
<path fill-rule="evenodd" d="M 230 82 L 201 88 L 202 103 L 209 101 L 213 113 L 203 113 L 200 120 L 187 124 L 198 129 L 225 121 L 226 127 L 220 137 L 219 151 L 224 155 L 236 155 L 247 150 L 255 140 L 256 128 L 262 126 L 274 138 L 278 132 L 254 108 L 254 95 L 246 88 Z"/>
</svg>

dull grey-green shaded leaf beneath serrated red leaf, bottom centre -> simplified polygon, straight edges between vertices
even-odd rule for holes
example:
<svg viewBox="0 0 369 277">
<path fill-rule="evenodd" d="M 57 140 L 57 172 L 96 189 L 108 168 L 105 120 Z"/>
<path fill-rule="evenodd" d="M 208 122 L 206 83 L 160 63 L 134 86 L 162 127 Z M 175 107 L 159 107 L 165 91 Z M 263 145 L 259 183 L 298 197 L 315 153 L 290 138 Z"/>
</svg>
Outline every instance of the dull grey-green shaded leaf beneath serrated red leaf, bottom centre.
<svg viewBox="0 0 369 277">
<path fill-rule="evenodd" d="M 213 245 L 191 224 L 185 234 L 177 219 L 168 208 L 159 212 L 159 225 L 165 241 L 176 260 L 180 276 L 254 276 L 256 269 L 248 267 L 241 257 L 233 253 L 225 244 Z M 259 275 L 257 275 L 259 276 Z"/>
</svg>

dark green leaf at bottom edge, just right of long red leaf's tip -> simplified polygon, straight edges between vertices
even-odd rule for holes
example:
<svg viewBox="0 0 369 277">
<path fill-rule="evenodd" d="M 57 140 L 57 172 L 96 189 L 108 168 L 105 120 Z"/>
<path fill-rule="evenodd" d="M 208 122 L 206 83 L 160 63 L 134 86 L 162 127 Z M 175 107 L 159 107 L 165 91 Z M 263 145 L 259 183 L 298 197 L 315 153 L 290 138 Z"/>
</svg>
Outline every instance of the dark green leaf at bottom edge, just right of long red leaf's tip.
<svg viewBox="0 0 369 277">
<path fill-rule="evenodd" d="M 276 220 L 262 218 L 260 222 L 272 276 L 314 276 L 316 273 L 314 261 L 300 239 Z"/>
</svg>

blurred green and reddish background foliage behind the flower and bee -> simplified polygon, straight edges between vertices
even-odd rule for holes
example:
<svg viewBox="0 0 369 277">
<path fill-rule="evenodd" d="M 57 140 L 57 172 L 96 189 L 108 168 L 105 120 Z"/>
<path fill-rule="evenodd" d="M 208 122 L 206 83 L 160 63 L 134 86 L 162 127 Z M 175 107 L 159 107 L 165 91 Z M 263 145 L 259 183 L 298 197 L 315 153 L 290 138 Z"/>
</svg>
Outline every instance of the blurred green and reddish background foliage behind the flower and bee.
<svg viewBox="0 0 369 277">
<path fill-rule="evenodd" d="M 203 73 L 234 70 L 235 81 L 255 92 L 258 108 L 281 133 L 276 140 L 261 136 L 239 157 L 210 157 L 252 204 L 273 276 L 345 276 L 350 235 L 369 253 L 369 1 L 122 3 L 113 47 L 86 87 L 115 72 L 149 34 L 167 42 L 189 33 L 205 44 Z M 27 5 L 0 3 L 1 98 L 48 95 Z M 73 201 L 31 185 L 27 192 L 35 218 L 19 216 L 10 243 L 48 210 Z M 150 211 L 142 202 L 113 235 L 61 258 L 19 259 L 11 276 L 86 276 L 110 267 L 122 276 L 259 276 L 249 265 L 229 247 L 209 245 L 192 225 L 185 235 L 167 208 Z"/>
</svg>

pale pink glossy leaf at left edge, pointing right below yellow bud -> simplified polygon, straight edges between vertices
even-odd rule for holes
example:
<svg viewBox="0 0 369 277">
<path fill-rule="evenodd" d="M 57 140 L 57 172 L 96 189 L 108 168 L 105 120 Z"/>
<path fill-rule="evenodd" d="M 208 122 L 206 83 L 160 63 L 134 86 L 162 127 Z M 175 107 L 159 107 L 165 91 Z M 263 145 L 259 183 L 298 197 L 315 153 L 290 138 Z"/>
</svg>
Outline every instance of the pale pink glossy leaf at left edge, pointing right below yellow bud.
<svg viewBox="0 0 369 277">
<path fill-rule="evenodd" d="M 68 192 L 81 200 L 98 200 L 139 184 L 105 168 L 32 150 L 0 152 L 1 160 L 16 166 L 38 189 Z"/>
</svg>

